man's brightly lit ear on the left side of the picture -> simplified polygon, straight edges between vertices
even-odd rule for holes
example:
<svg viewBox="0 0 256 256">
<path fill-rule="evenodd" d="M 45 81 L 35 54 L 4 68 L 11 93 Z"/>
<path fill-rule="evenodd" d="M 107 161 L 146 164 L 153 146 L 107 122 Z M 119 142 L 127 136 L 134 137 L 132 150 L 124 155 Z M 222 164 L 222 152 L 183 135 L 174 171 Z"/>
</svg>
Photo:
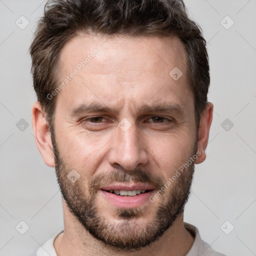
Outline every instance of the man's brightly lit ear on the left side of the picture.
<svg viewBox="0 0 256 256">
<path fill-rule="evenodd" d="M 39 102 L 35 102 L 32 106 L 32 125 L 35 143 L 43 161 L 49 167 L 55 167 L 50 131 Z"/>
</svg>

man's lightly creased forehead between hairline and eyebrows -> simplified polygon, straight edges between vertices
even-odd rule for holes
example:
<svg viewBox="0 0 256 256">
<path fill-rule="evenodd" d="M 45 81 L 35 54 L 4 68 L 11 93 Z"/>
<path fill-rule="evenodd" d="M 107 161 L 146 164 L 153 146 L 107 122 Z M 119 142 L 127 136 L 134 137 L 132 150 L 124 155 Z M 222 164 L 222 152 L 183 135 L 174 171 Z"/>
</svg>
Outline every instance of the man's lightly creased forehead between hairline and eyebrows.
<svg viewBox="0 0 256 256">
<path fill-rule="evenodd" d="M 186 51 L 177 37 L 80 34 L 64 45 L 59 59 L 61 81 L 75 73 L 57 95 L 69 108 L 95 100 L 129 100 L 139 108 L 163 97 L 185 105 L 191 97 Z M 173 68 L 182 72 L 178 80 L 169 75 Z"/>
</svg>

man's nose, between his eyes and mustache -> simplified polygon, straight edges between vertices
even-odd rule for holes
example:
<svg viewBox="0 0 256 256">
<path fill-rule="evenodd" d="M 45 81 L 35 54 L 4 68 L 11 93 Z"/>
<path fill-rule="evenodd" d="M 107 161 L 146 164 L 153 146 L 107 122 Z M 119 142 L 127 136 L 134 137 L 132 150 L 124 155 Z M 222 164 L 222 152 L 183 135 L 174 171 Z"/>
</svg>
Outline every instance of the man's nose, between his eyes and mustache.
<svg viewBox="0 0 256 256">
<path fill-rule="evenodd" d="M 147 146 L 139 136 L 135 124 L 125 131 L 117 127 L 111 141 L 108 161 L 113 167 L 121 166 L 126 170 L 134 170 L 139 164 L 147 163 Z"/>
</svg>

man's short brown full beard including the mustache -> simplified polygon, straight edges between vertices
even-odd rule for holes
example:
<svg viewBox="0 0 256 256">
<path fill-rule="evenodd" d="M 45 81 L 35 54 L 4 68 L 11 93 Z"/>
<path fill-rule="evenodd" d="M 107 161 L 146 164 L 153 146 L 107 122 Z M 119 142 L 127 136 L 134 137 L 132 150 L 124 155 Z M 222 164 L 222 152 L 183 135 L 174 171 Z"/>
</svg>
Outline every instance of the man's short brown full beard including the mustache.
<svg viewBox="0 0 256 256">
<path fill-rule="evenodd" d="M 152 185 L 156 191 L 161 190 L 166 180 L 152 175 L 141 168 L 133 171 L 123 168 L 114 169 L 110 173 L 100 173 L 92 176 L 87 186 L 82 182 L 82 176 L 74 183 L 70 182 L 67 174 L 71 166 L 60 156 L 54 134 L 51 132 L 55 170 L 57 181 L 70 212 L 81 227 L 87 230 L 94 238 L 103 242 L 108 248 L 115 251 L 139 250 L 157 240 L 169 229 L 178 216 L 184 211 L 188 200 L 190 186 L 194 172 L 194 162 L 166 189 L 155 201 L 154 211 L 150 212 L 150 219 L 143 223 L 139 221 L 146 212 L 146 206 L 138 208 L 106 208 L 117 221 L 111 221 L 101 212 L 102 203 L 96 199 L 100 187 L 111 182 L 141 182 Z M 194 142 L 190 156 L 197 150 L 197 141 Z M 189 158 L 188 158 L 189 159 Z M 84 173 L 84 170 L 78 172 Z M 147 204 L 150 204 L 148 200 Z M 152 207 L 152 206 L 151 206 Z M 114 212 L 112 212 L 114 211 Z M 113 214 L 114 213 L 114 214 Z M 146 222 L 145 222 L 146 221 Z"/>
</svg>

